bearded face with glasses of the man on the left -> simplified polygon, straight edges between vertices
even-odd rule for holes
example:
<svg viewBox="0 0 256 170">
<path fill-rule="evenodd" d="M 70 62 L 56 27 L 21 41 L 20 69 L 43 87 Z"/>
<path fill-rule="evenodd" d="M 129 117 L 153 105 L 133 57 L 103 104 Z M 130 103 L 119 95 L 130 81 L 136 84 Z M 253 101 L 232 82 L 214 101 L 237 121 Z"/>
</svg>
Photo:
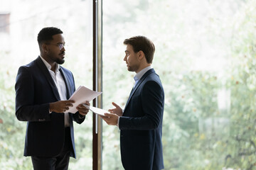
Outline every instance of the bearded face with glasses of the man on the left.
<svg viewBox="0 0 256 170">
<path fill-rule="evenodd" d="M 49 63 L 63 64 L 65 62 L 65 41 L 62 34 L 53 35 L 53 40 L 46 43 L 47 45 L 47 60 Z"/>
</svg>

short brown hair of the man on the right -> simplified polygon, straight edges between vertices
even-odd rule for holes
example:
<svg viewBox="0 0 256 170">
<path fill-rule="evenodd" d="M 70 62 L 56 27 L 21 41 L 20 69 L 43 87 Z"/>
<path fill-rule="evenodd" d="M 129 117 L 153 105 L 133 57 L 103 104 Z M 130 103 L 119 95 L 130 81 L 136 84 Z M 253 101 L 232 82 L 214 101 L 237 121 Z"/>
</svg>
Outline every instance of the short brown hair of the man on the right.
<svg viewBox="0 0 256 170">
<path fill-rule="evenodd" d="M 146 62 L 151 64 L 154 58 L 154 43 L 144 36 L 134 36 L 124 40 L 124 45 L 132 45 L 134 52 L 142 51 L 145 54 Z"/>
</svg>

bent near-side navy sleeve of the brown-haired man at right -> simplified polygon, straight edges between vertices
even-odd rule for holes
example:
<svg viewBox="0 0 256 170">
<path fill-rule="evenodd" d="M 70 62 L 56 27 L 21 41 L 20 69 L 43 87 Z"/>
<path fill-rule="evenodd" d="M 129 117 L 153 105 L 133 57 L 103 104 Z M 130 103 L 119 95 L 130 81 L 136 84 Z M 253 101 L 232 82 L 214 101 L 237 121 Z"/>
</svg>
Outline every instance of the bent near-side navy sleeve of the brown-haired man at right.
<svg viewBox="0 0 256 170">
<path fill-rule="evenodd" d="M 142 108 L 132 108 L 130 111 L 142 111 L 142 116 L 120 117 L 120 130 L 152 130 L 159 127 L 164 109 L 164 90 L 156 81 L 147 81 L 140 97 Z M 134 115 L 141 115 L 141 113 Z"/>
</svg>

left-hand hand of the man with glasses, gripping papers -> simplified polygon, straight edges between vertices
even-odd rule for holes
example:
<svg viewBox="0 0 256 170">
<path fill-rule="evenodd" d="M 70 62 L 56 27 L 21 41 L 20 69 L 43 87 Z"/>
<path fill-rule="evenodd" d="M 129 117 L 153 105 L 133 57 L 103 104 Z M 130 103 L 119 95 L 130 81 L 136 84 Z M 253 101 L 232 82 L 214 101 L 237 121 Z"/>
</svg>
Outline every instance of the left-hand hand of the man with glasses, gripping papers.
<svg viewBox="0 0 256 170">
<path fill-rule="evenodd" d="M 64 113 L 69 107 L 73 106 L 73 103 L 75 103 L 75 101 L 56 101 L 50 103 L 49 110 L 50 112 Z"/>
</svg>

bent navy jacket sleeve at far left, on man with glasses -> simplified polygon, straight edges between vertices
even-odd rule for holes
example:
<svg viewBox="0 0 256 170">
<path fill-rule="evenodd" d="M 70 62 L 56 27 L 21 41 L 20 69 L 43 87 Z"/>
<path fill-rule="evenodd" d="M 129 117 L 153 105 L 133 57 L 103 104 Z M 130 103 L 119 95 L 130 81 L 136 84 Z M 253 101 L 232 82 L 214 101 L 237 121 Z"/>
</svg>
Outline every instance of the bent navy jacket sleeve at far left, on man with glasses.
<svg viewBox="0 0 256 170">
<path fill-rule="evenodd" d="M 21 121 L 50 120 L 49 103 L 34 105 L 33 77 L 27 67 L 20 67 L 16 77 L 16 117 Z"/>
</svg>

